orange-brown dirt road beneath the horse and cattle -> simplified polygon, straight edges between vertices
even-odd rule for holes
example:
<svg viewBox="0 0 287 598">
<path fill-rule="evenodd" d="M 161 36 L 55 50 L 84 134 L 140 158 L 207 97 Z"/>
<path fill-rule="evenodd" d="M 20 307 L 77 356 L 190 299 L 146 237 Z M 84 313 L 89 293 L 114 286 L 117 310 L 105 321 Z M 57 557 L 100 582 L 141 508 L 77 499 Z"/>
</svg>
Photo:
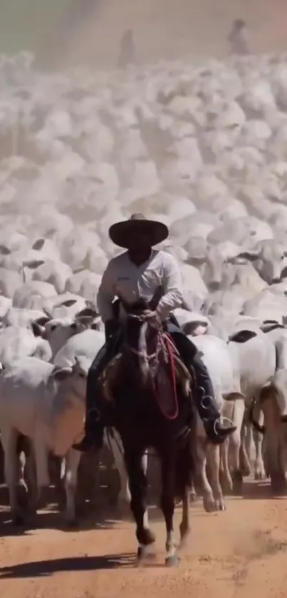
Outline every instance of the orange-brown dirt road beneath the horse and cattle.
<svg viewBox="0 0 287 598">
<path fill-rule="evenodd" d="M 265 498 L 264 498 L 265 495 Z M 1 524 L 1 598 L 285 598 L 287 502 L 248 485 L 223 513 L 192 506 L 193 532 L 179 567 L 164 567 L 165 526 L 153 517 L 157 561 L 135 566 L 131 522 L 105 520 L 78 531 L 57 529 L 61 516 L 39 515 L 41 529 L 21 535 Z M 2 513 L 2 516 L 4 514 Z M 179 514 L 176 524 L 179 524 Z"/>
</svg>

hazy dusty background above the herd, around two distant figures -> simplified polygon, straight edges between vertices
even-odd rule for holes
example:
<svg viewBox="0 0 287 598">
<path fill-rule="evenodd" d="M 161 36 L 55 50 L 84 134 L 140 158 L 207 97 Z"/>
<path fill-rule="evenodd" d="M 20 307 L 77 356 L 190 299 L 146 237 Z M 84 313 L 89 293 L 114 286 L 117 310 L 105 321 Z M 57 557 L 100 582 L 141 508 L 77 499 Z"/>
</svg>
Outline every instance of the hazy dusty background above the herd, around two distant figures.
<svg viewBox="0 0 287 598">
<path fill-rule="evenodd" d="M 113 66 L 128 27 L 134 29 L 139 62 L 224 56 L 226 34 L 239 17 L 249 24 L 252 51 L 287 49 L 284 0 L 51 0 L 42 6 L 11 0 L 0 15 L 1 51 L 31 49 L 55 66 Z"/>
</svg>

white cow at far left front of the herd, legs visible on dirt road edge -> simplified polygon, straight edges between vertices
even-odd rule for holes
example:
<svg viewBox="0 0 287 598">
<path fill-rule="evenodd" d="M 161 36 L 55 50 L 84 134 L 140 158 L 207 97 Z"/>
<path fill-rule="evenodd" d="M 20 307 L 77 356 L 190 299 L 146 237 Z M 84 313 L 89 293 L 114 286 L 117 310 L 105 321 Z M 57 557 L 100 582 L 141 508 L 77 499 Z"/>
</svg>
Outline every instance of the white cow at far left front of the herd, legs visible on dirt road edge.
<svg viewBox="0 0 287 598">
<path fill-rule="evenodd" d="M 16 498 L 18 435 L 30 438 L 36 461 L 38 495 L 49 485 L 48 452 L 66 457 L 66 520 L 75 520 L 75 488 L 80 453 L 73 443 L 83 434 L 87 368 L 82 359 L 73 368 L 58 368 L 34 357 L 14 361 L 0 377 L 0 429 L 5 477 L 12 517 L 23 513 Z M 32 477 L 33 480 L 33 477 Z M 36 507 L 31 488 L 31 508 Z"/>
</svg>

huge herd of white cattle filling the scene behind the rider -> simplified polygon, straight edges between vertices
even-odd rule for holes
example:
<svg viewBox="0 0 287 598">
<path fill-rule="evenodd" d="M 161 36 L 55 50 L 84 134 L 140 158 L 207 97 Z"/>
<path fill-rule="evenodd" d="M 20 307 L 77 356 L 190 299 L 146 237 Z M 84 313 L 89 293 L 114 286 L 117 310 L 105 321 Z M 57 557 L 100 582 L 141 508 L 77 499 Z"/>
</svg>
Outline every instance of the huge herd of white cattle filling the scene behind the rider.
<svg viewBox="0 0 287 598">
<path fill-rule="evenodd" d="M 108 228 L 132 212 L 169 225 L 190 308 L 177 319 L 237 427 L 219 450 L 197 421 L 191 496 L 224 510 L 250 475 L 284 492 L 287 56 L 39 73 L 21 53 L 1 58 L 0 82 L 0 481 L 14 522 L 35 513 L 53 468 L 75 521 L 71 447 L 104 342 L 95 297 L 117 251 Z M 120 439 L 105 445 L 124 504 Z"/>
</svg>

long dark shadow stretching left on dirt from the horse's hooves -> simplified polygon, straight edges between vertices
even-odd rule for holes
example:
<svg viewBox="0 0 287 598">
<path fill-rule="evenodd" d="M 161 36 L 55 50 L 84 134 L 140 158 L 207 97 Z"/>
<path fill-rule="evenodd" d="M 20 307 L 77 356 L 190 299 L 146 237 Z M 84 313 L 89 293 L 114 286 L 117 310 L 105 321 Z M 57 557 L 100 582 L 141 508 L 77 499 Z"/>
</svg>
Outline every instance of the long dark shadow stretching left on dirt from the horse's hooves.
<svg viewBox="0 0 287 598">
<path fill-rule="evenodd" d="M 100 555 L 97 557 L 66 557 L 63 559 L 33 561 L 0 567 L 0 579 L 25 577 L 48 577 L 58 572 L 99 571 L 100 569 L 118 569 L 133 567 L 135 554 L 125 552 L 121 555 Z"/>
</svg>

